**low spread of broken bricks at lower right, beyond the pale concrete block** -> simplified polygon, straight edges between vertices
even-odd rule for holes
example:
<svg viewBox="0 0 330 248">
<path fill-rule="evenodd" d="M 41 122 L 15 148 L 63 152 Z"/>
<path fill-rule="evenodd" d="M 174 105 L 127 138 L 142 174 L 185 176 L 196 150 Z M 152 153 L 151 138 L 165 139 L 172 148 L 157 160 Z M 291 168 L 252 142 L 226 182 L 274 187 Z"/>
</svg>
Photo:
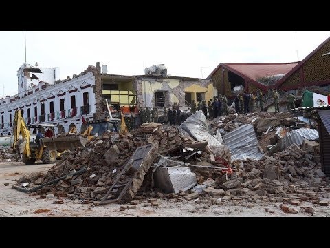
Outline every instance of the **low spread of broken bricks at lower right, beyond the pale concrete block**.
<svg viewBox="0 0 330 248">
<path fill-rule="evenodd" d="M 329 177 L 321 169 L 320 149 L 315 141 L 305 141 L 301 148 L 293 144 L 287 149 L 265 156 L 259 161 L 234 161 L 234 173 L 210 175 L 213 185 L 201 195 L 223 197 L 224 200 L 287 201 L 320 203 L 330 197 Z"/>
</svg>

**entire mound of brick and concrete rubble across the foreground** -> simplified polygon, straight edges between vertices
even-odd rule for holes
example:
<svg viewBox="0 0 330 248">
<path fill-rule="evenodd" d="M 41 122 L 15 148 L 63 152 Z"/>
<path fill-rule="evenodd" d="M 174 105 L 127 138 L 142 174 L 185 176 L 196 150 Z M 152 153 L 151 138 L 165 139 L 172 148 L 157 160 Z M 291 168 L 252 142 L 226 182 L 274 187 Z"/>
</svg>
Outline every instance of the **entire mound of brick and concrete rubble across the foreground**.
<svg viewBox="0 0 330 248">
<path fill-rule="evenodd" d="M 263 156 L 244 160 L 235 158 L 231 147 L 225 145 L 227 134 L 223 135 L 224 145 L 208 145 L 179 132 L 178 127 L 145 123 L 127 135 L 109 132 L 98 136 L 47 173 L 23 176 L 17 180 L 17 187 L 29 183 L 27 189 L 40 187 L 34 194 L 94 203 L 120 195 L 124 202 L 152 196 L 157 197 L 150 202 L 155 207 L 161 203 L 159 198 L 165 197 L 189 202 L 205 199 L 217 205 L 223 201 L 235 205 L 272 202 L 281 203 L 285 213 L 313 213 L 313 208 L 302 207 L 301 203 L 327 206 L 330 197 L 330 179 L 322 172 L 317 140 L 305 138 L 302 144 L 293 143 L 275 153 L 268 149 L 295 130 L 296 122 L 299 120 L 289 113 L 261 112 L 230 114 L 208 121 L 209 127 L 203 124 L 211 136 L 253 127 L 254 146 L 260 147 Z M 136 155 L 137 149 L 148 145 L 152 148 Z M 142 162 L 134 169 L 136 161 Z"/>
</svg>

